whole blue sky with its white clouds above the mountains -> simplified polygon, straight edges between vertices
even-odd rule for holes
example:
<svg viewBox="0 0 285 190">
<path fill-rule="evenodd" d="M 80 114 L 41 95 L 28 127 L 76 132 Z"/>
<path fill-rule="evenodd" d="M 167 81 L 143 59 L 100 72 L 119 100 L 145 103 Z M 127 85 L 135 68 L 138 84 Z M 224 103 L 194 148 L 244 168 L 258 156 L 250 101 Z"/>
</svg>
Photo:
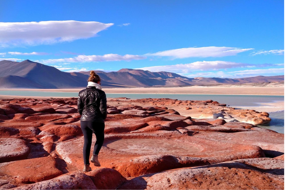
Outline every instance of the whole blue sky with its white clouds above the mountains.
<svg viewBox="0 0 285 190">
<path fill-rule="evenodd" d="M 2 0 L 3 59 L 66 72 L 283 75 L 284 1 Z"/>
</svg>

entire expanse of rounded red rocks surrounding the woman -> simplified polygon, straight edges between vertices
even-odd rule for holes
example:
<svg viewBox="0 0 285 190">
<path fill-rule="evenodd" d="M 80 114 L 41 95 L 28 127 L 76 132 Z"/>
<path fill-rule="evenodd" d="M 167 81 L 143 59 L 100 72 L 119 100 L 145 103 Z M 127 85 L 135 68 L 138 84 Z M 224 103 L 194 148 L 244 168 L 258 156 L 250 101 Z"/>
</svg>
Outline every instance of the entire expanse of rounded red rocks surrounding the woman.
<svg viewBox="0 0 285 190">
<path fill-rule="evenodd" d="M 91 164 L 86 175 L 73 172 L 83 169 L 77 98 L 9 99 L 0 106 L 0 189 L 284 187 L 278 173 L 284 134 L 253 125 L 268 121 L 265 112 L 212 100 L 108 99 L 101 167 Z M 247 122 L 229 122 L 235 119 Z M 93 135 L 91 147 L 95 141 Z"/>
</svg>

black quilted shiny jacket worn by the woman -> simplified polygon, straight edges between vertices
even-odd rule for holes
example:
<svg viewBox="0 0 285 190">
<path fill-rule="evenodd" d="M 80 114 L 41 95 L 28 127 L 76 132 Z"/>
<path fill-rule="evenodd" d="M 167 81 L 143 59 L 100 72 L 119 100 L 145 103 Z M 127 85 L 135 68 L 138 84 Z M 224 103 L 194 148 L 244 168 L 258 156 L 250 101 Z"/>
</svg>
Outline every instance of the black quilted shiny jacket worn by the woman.
<svg viewBox="0 0 285 190">
<path fill-rule="evenodd" d="M 78 112 L 81 121 L 104 122 L 107 118 L 107 99 L 103 90 L 88 86 L 78 94 Z"/>
</svg>

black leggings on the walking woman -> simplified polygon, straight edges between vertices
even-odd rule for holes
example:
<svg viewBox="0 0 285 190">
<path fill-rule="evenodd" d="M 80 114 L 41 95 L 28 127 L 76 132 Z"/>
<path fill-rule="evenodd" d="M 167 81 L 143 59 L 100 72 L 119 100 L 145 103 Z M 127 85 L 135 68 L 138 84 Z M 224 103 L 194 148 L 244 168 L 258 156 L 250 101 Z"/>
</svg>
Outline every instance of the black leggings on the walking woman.
<svg viewBox="0 0 285 190">
<path fill-rule="evenodd" d="M 89 164 L 90 149 L 92 143 L 92 134 L 95 133 L 96 143 L 94 145 L 93 154 L 98 155 L 99 151 L 104 142 L 104 129 L 105 123 L 102 122 L 91 122 L 81 121 L 81 130 L 84 135 L 84 146 L 83 146 L 83 159 L 84 164 Z"/>
</svg>

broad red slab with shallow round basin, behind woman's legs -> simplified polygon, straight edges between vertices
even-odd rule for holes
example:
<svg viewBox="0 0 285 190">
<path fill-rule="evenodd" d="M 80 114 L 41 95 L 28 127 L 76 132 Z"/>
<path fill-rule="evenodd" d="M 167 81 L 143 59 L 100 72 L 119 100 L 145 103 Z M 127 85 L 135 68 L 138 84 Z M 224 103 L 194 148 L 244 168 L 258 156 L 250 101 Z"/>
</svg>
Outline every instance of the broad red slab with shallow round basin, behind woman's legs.
<svg viewBox="0 0 285 190">
<path fill-rule="evenodd" d="M 67 163 L 82 169 L 83 142 L 84 138 L 63 142 L 56 151 Z M 99 153 L 101 167 L 114 168 L 124 177 L 258 157 L 264 157 L 258 146 L 216 142 L 178 131 L 105 135 Z M 91 167 L 95 168 L 92 164 Z"/>
</svg>

